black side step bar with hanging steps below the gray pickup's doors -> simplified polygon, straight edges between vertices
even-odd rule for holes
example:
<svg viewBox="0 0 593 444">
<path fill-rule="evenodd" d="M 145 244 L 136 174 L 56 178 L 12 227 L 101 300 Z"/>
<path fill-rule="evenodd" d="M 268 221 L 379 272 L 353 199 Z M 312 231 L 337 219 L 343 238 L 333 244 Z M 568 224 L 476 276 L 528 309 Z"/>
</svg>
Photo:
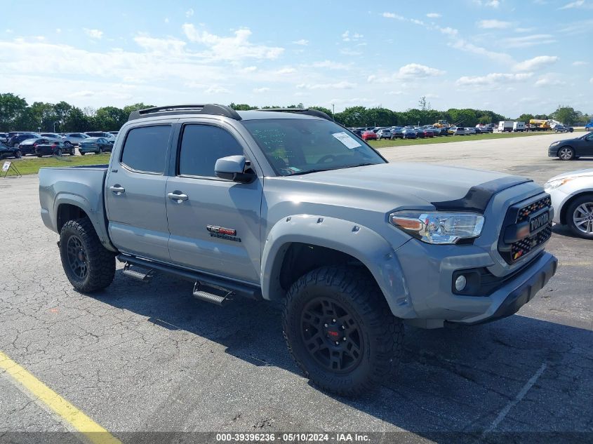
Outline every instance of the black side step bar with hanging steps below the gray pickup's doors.
<svg viewBox="0 0 593 444">
<path fill-rule="evenodd" d="M 166 274 L 171 274 L 173 276 L 177 276 L 178 278 L 185 279 L 186 281 L 192 281 L 194 285 L 194 296 L 198 299 L 203 299 L 199 295 L 196 295 L 196 292 L 206 292 L 208 294 L 214 295 L 215 297 L 222 297 L 222 300 L 229 300 L 229 295 L 237 295 L 241 297 L 246 297 L 248 299 L 253 300 L 261 300 L 262 299 L 262 290 L 259 285 L 254 285 L 250 283 L 242 283 L 237 281 L 231 281 L 225 278 L 219 278 L 217 276 L 211 276 L 209 274 L 201 273 L 200 271 L 193 271 L 188 270 L 181 267 L 175 267 L 174 265 L 169 264 L 161 264 L 160 262 L 153 262 L 151 260 L 142 259 L 140 257 L 135 257 L 131 255 L 121 254 L 117 256 L 117 260 L 119 262 L 125 262 L 126 264 L 135 265 L 136 267 L 140 267 L 145 270 L 149 270 L 149 275 L 151 275 L 154 271 L 161 271 Z M 124 266 L 124 270 L 125 270 Z M 129 268 L 129 267 L 128 267 Z M 136 273 L 139 273 L 138 271 Z M 124 273 L 125 274 L 125 273 Z M 142 275 L 142 273 L 139 273 Z M 131 274 L 126 274 L 126 276 L 131 276 Z M 210 291 L 203 290 L 201 285 L 204 285 L 209 288 L 214 289 L 214 293 Z M 220 291 L 218 291 L 220 290 Z M 216 293 L 221 292 L 223 296 L 218 296 Z M 213 300 L 208 299 L 208 297 L 204 298 L 203 300 L 208 300 L 208 302 L 213 302 Z M 216 303 L 216 302 L 215 302 Z"/>
</svg>

